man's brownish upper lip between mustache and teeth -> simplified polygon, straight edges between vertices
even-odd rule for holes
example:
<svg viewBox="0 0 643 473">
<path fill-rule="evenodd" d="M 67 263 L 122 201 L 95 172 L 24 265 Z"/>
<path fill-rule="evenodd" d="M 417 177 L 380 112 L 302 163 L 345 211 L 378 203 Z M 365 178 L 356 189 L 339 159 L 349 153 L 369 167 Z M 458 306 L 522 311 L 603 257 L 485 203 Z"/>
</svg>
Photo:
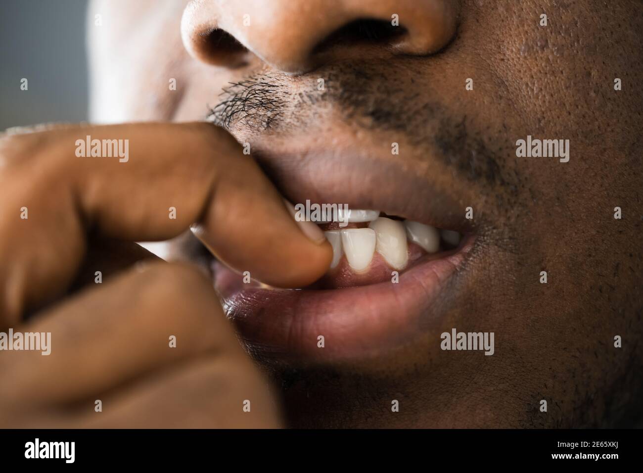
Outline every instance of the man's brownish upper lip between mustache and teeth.
<svg viewBox="0 0 643 473">
<path fill-rule="evenodd" d="M 347 204 L 374 209 L 462 234 L 475 231 L 465 217 L 467 203 L 452 183 L 422 175 L 376 154 L 351 151 L 260 150 L 255 159 L 293 203 Z"/>
</svg>

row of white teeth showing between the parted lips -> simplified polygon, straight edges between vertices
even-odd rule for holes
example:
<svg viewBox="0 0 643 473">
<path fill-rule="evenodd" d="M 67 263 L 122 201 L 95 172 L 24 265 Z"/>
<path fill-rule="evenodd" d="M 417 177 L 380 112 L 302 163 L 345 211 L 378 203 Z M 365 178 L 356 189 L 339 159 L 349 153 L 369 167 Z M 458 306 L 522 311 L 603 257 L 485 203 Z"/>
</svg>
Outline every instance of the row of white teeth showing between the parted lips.
<svg viewBox="0 0 643 473">
<path fill-rule="evenodd" d="M 439 250 L 440 234 L 449 245 L 457 246 L 460 241 L 460 234 L 452 230 L 438 230 L 424 223 L 401 222 L 378 215 L 377 210 L 349 210 L 349 221 L 370 221 L 368 228 L 324 232 L 332 246 L 331 268 L 335 268 L 345 254 L 353 270 L 363 271 L 377 250 L 392 268 L 403 270 L 408 264 L 407 237 L 428 253 Z"/>
</svg>

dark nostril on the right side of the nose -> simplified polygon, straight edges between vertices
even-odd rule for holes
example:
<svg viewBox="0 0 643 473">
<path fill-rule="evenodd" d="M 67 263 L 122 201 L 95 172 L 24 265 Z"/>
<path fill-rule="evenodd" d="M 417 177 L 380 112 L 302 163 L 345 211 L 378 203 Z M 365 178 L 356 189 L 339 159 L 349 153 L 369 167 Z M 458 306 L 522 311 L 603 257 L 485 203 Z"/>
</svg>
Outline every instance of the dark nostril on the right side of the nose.
<svg viewBox="0 0 643 473">
<path fill-rule="evenodd" d="M 394 26 L 390 21 L 356 19 L 323 39 L 314 47 L 312 53 L 320 53 L 339 45 L 392 44 L 407 33 L 408 30 L 404 26 Z"/>
</svg>

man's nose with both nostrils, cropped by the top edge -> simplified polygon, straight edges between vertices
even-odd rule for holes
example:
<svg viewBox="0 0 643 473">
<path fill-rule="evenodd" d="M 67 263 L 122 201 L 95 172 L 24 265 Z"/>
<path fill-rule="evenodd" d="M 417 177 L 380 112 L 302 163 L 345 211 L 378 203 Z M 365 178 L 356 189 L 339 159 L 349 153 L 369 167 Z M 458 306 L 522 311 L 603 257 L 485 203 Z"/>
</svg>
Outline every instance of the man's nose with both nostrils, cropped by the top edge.
<svg viewBox="0 0 643 473">
<path fill-rule="evenodd" d="M 208 64 L 234 67 L 253 53 L 299 74 L 333 42 L 343 49 L 378 44 L 426 55 L 456 30 L 458 0 L 192 0 L 181 21 L 186 50 Z M 334 50 L 342 49 L 334 48 Z"/>
</svg>

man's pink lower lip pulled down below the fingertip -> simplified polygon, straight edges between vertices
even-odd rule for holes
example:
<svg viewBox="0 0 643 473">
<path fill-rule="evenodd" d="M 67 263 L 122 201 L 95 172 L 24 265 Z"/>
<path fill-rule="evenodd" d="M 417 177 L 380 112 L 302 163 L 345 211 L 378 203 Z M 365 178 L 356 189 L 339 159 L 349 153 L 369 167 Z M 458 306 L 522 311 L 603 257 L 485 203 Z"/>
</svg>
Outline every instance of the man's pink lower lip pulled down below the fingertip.
<svg viewBox="0 0 643 473">
<path fill-rule="evenodd" d="M 280 362 L 367 358 L 422 335 L 427 319 L 439 319 L 445 296 L 472 242 L 427 255 L 399 275 L 399 283 L 332 290 L 282 290 L 244 284 L 243 277 L 214 264 L 217 292 L 250 353 Z M 323 349 L 320 347 L 323 337 Z"/>
</svg>

